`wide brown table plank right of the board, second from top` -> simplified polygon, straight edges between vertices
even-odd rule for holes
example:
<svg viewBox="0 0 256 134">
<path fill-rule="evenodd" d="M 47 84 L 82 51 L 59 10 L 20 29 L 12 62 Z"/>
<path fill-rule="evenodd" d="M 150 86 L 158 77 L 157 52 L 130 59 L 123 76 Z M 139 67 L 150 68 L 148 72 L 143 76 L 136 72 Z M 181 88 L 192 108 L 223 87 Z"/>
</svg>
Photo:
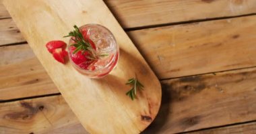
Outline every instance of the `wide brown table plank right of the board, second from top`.
<svg viewBox="0 0 256 134">
<path fill-rule="evenodd" d="M 243 25 L 241 25 L 243 23 Z M 256 15 L 129 33 L 158 78 L 256 66 Z"/>
</svg>

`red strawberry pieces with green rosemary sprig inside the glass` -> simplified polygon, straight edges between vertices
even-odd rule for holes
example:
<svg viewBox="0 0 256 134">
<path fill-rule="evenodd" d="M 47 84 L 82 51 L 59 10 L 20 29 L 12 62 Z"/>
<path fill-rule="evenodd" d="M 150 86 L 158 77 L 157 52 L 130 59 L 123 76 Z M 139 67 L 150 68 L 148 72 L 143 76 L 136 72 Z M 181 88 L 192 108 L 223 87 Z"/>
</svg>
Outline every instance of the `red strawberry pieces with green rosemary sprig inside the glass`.
<svg viewBox="0 0 256 134">
<path fill-rule="evenodd" d="M 73 43 L 69 46 L 71 60 L 80 68 L 94 70 L 95 68 L 88 67 L 98 60 L 96 46 L 90 40 L 87 30 L 82 31 L 76 25 L 73 27 L 75 29 L 70 31 L 68 36 L 64 36 L 64 38 L 71 37 L 71 43 Z"/>
</svg>

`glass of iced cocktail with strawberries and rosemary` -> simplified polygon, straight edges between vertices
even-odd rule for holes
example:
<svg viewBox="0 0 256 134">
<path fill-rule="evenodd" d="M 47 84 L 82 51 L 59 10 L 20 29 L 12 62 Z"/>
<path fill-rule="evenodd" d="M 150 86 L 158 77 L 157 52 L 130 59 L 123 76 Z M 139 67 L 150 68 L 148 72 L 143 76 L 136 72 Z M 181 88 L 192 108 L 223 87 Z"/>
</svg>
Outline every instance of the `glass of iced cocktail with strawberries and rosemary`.
<svg viewBox="0 0 256 134">
<path fill-rule="evenodd" d="M 71 64 L 90 78 L 109 74 L 119 58 L 119 46 L 113 34 L 98 24 L 74 27 L 75 30 L 69 33 L 68 54 Z"/>
</svg>

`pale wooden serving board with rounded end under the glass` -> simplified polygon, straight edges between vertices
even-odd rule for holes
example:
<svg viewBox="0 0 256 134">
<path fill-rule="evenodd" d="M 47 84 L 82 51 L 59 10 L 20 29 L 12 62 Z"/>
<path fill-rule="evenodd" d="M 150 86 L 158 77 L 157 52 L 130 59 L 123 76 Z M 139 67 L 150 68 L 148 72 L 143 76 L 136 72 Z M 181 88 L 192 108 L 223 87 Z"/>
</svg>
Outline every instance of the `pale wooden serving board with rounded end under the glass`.
<svg viewBox="0 0 256 134">
<path fill-rule="evenodd" d="M 156 117 L 161 101 L 158 78 L 101 0 L 5 0 L 5 7 L 55 82 L 69 107 L 90 133 L 139 133 Z M 79 74 L 71 63 L 53 59 L 45 44 L 64 40 L 73 25 L 99 23 L 113 32 L 120 46 L 117 67 L 102 79 Z M 145 88 L 137 99 L 125 85 L 137 75 Z"/>
</svg>

